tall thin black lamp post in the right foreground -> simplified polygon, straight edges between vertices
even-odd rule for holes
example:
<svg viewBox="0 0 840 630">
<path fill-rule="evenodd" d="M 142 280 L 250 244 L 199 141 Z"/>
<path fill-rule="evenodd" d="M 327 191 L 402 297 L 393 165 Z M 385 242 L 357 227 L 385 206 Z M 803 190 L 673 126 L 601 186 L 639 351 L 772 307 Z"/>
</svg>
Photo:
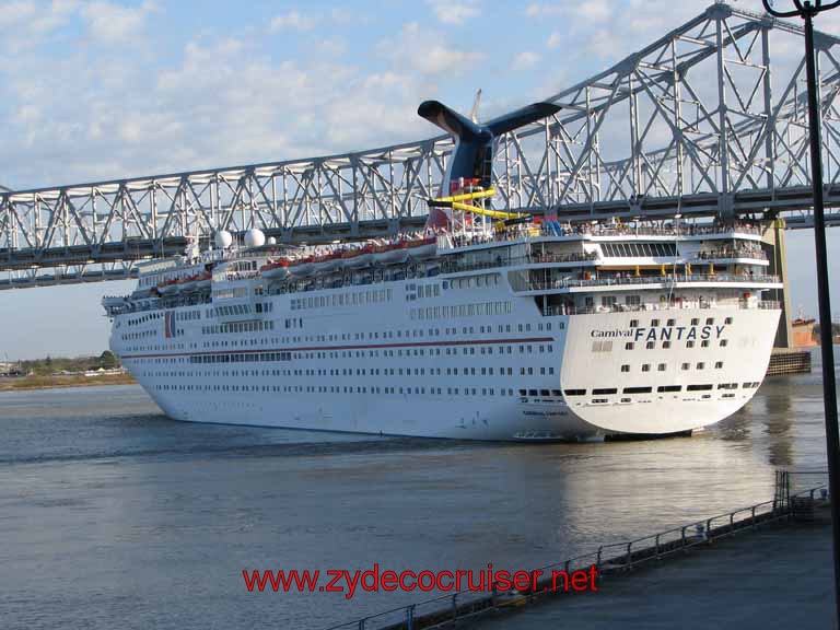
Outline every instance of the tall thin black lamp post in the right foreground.
<svg viewBox="0 0 840 630">
<path fill-rule="evenodd" d="M 826 454 L 828 487 L 831 493 L 831 530 L 835 558 L 836 623 L 840 623 L 840 482 L 838 456 L 840 440 L 837 428 L 837 385 L 835 383 L 835 348 L 831 336 L 831 300 L 828 287 L 826 253 L 826 220 L 822 205 L 822 147 L 817 102 L 816 50 L 814 49 L 814 16 L 840 5 L 840 0 L 793 0 L 794 9 L 777 11 L 771 0 L 762 0 L 765 9 L 775 18 L 800 16 L 805 21 L 805 65 L 808 80 L 808 129 L 810 133 L 810 180 L 814 189 L 814 244 L 817 253 L 817 295 L 819 299 L 819 338 L 822 354 L 822 404 L 826 413 Z"/>
</svg>

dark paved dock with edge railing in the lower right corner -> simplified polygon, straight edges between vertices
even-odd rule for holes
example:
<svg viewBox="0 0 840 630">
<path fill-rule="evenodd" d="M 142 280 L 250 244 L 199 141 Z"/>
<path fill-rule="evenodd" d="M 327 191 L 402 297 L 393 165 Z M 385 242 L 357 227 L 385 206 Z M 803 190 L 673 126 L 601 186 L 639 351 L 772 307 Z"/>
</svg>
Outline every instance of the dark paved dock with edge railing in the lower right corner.
<svg viewBox="0 0 840 630">
<path fill-rule="evenodd" d="M 779 481 L 782 481 L 780 483 Z M 448 628 L 831 628 L 833 569 L 825 485 L 542 567 L 597 568 L 597 591 L 443 595 L 329 630 Z"/>
</svg>

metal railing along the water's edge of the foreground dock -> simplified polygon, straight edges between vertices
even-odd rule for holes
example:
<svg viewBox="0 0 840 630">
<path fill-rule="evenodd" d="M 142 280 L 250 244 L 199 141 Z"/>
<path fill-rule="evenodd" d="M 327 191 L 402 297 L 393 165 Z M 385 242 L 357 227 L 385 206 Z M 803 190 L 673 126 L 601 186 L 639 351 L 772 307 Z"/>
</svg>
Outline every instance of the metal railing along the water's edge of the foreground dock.
<svg viewBox="0 0 840 630">
<path fill-rule="evenodd" d="M 594 569 L 597 579 L 600 580 L 605 575 L 625 573 L 649 562 L 657 562 L 664 558 L 688 553 L 695 548 L 711 546 L 714 541 L 730 536 L 755 532 L 759 527 L 783 521 L 793 521 L 797 518 L 795 509 L 797 500 L 807 501 L 814 505 L 824 504 L 829 500 L 826 488 L 827 485 L 821 483 L 791 494 L 788 500 L 781 500 L 777 491 L 777 497 L 770 501 L 716 514 L 650 536 L 602 545 L 597 549 L 574 558 L 527 571 L 529 575 L 537 574 L 541 578 L 537 580 L 536 585 L 524 591 L 500 593 L 495 590 L 491 592 L 464 590 L 331 626 L 327 630 L 416 630 L 454 627 L 459 621 L 493 610 L 523 606 L 550 597 L 555 572 L 560 575 L 562 573 L 559 572 L 565 572 L 565 575 L 570 576 L 575 571 L 588 572 Z"/>
</svg>

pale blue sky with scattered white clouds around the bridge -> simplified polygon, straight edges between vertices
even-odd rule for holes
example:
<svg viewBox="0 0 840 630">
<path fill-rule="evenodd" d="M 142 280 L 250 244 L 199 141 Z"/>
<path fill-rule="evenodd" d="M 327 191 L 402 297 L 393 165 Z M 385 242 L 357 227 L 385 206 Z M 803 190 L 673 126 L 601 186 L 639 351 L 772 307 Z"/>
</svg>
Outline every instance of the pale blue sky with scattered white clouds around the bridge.
<svg viewBox="0 0 840 630">
<path fill-rule="evenodd" d="M 560 92 L 700 14 L 684 0 L 0 2 L 0 184 L 12 189 L 310 158 L 436 136 L 423 100 L 483 117 Z M 758 0 L 738 7 L 758 12 Z M 840 34 L 838 15 L 818 27 Z M 789 232 L 816 313 L 813 234 Z M 829 231 L 832 277 L 840 230 Z M 0 292 L 0 360 L 100 353 L 104 294 Z M 840 312 L 840 296 L 835 300 Z"/>
</svg>

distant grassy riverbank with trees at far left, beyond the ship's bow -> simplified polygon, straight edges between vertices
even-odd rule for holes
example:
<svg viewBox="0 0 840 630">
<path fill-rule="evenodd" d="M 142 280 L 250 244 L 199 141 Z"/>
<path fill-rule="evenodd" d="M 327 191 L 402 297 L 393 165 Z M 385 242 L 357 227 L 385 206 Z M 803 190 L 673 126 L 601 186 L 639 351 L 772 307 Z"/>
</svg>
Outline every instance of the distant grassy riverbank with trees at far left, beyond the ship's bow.
<svg viewBox="0 0 840 630">
<path fill-rule="evenodd" d="M 132 385 L 136 381 L 106 350 L 98 357 L 52 358 L 0 363 L 0 392 L 93 385 Z"/>
</svg>

